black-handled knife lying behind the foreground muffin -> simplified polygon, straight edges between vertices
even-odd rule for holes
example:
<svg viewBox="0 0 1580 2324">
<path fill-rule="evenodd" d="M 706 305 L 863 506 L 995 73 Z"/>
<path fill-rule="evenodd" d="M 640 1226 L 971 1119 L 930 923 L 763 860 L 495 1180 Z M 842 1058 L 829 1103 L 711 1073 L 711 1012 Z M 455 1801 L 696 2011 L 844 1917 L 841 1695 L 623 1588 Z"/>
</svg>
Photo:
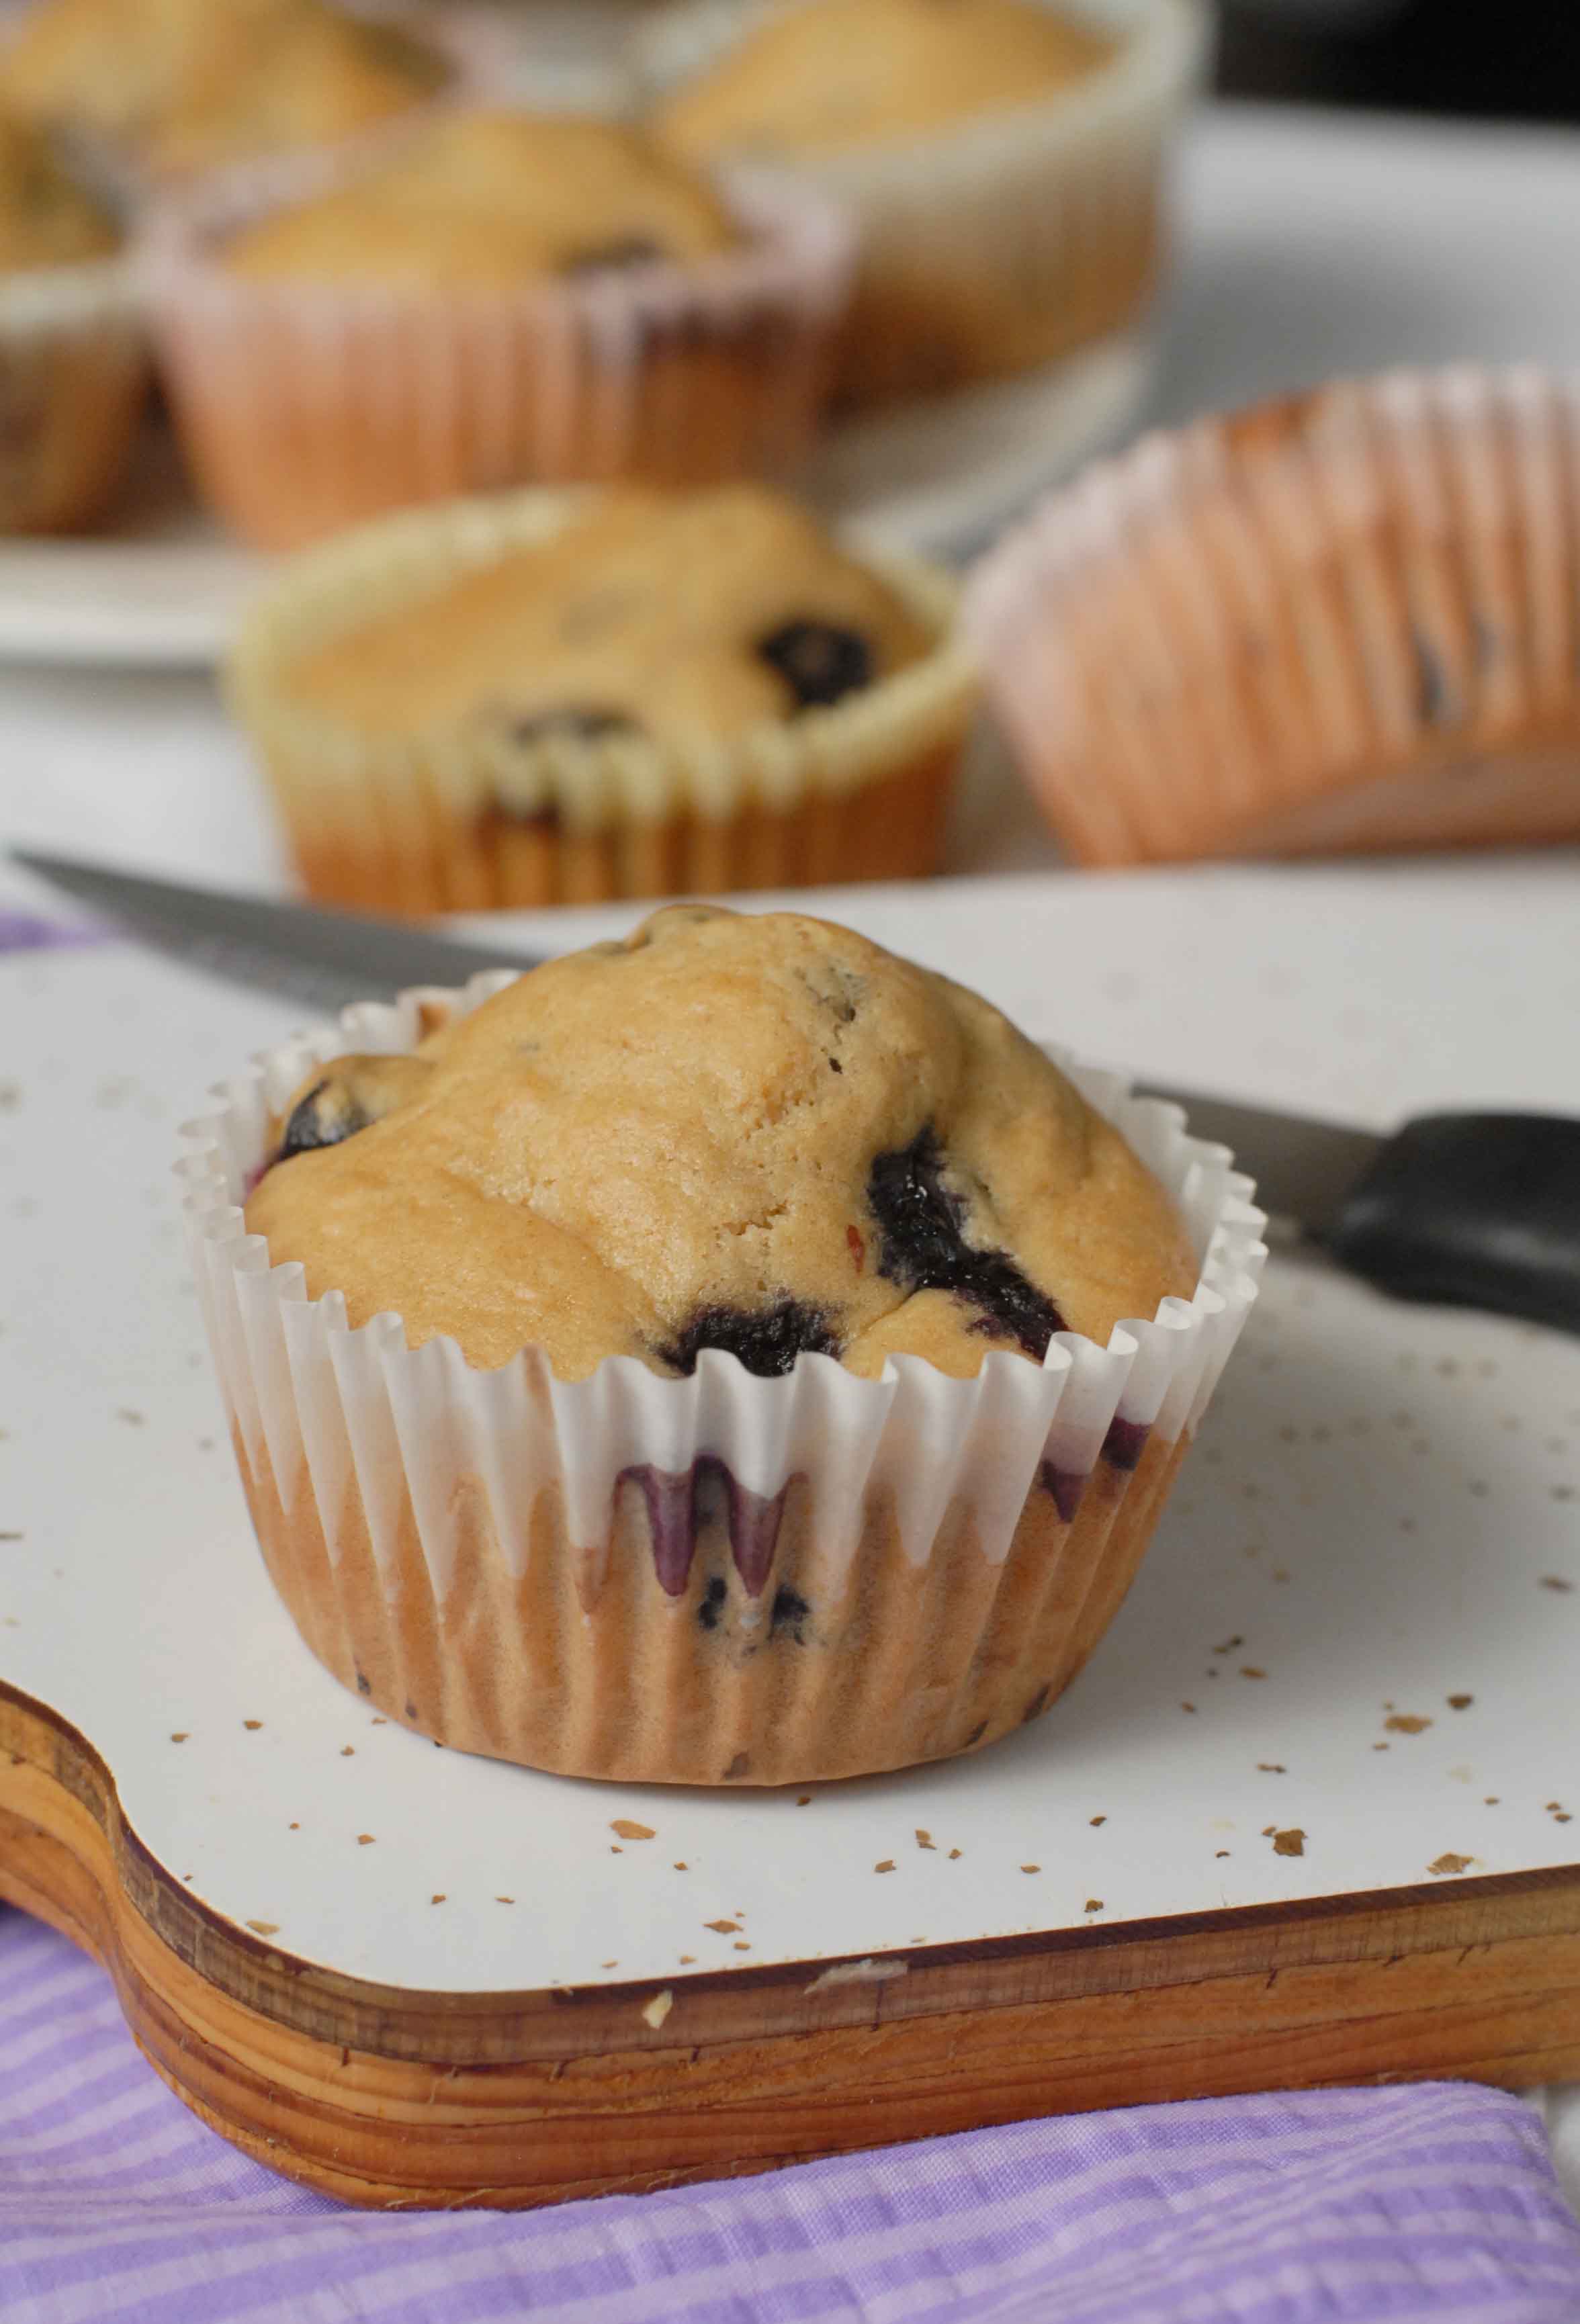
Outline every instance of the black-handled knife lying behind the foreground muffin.
<svg viewBox="0 0 1580 2324">
<path fill-rule="evenodd" d="M 12 851 L 12 862 L 188 967 L 321 1013 L 544 957 L 56 855 Z M 1269 1211 L 1378 1290 L 1580 1332 L 1580 1120 L 1431 1113 L 1378 1136 L 1150 1081 L 1146 1095 L 1183 1106 L 1194 1136 L 1234 1150 Z"/>
</svg>

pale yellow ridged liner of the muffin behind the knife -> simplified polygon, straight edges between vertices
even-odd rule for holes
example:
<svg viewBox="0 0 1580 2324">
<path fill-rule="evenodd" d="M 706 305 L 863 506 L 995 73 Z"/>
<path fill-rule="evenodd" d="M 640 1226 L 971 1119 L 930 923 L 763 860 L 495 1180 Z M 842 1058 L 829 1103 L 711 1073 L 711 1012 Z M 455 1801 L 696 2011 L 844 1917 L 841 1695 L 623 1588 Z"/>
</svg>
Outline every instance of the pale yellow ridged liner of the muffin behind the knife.
<svg viewBox="0 0 1580 2324">
<path fill-rule="evenodd" d="M 376 739 L 290 700 L 300 653 L 551 539 L 586 504 L 579 490 L 511 493 L 383 518 L 307 551 L 253 609 L 230 700 L 307 890 L 435 913 L 934 871 L 976 672 L 953 627 L 955 583 L 911 558 L 857 546 L 934 651 L 732 744 L 516 741 L 483 727 Z"/>
</svg>

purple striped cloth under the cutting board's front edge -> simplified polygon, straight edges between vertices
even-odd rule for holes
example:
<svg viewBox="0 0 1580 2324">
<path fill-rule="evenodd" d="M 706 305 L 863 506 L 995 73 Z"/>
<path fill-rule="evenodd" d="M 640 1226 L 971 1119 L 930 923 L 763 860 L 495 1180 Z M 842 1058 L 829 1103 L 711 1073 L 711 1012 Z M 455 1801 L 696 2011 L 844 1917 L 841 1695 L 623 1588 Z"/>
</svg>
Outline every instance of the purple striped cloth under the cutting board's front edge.
<svg viewBox="0 0 1580 2324">
<path fill-rule="evenodd" d="M 0 1910 L 5 2324 L 1575 2324 L 1538 2117 L 1457 2082 L 1025 2122 L 539 2212 L 369 2215 L 235 2154 Z"/>
</svg>

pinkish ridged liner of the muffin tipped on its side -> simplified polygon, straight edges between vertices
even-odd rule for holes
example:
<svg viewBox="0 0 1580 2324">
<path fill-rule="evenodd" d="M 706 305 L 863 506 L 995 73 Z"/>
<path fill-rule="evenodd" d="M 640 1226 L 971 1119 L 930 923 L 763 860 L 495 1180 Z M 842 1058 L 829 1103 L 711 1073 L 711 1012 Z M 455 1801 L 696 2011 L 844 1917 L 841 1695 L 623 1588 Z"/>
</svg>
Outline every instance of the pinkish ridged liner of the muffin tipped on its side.
<svg viewBox="0 0 1580 2324">
<path fill-rule="evenodd" d="M 1580 837 L 1580 374 L 1392 372 L 1143 439 L 967 625 L 1090 865 Z"/>
</svg>

